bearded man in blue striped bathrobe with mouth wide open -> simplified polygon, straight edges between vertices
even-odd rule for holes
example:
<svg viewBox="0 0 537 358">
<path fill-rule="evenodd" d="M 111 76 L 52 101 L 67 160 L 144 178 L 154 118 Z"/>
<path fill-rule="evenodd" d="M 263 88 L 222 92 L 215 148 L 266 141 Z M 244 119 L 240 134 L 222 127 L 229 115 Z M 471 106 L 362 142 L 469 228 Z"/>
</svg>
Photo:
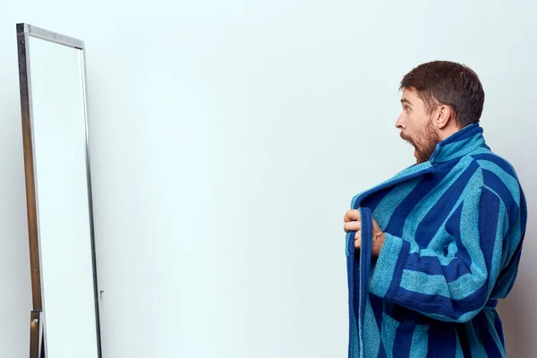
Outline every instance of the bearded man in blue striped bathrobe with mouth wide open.
<svg viewBox="0 0 537 358">
<path fill-rule="evenodd" d="M 396 127 L 417 163 L 345 214 L 349 357 L 505 357 L 495 307 L 515 282 L 526 204 L 483 138 L 482 84 L 432 62 L 401 90 Z"/>
</svg>

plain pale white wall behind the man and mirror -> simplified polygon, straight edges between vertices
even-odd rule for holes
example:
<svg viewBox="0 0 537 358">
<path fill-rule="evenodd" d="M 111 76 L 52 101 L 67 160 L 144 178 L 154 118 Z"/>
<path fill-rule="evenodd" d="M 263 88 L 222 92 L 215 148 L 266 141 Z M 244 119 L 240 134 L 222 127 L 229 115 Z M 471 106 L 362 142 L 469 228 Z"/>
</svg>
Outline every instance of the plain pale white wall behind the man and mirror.
<svg viewBox="0 0 537 358">
<path fill-rule="evenodd" d="M 352 196 L 412 162 L 394 127 L 416 64 L 470 65 L 482 124 L 537 192 L 530 2 L 96 0 L 0 13 L 0 356 L 28 347 L 15 22 L 88 47 L 90 145 L 106 358 L 341 357 Z M 537 352 L 530 217 L 510 357 Z"/>
</svg>

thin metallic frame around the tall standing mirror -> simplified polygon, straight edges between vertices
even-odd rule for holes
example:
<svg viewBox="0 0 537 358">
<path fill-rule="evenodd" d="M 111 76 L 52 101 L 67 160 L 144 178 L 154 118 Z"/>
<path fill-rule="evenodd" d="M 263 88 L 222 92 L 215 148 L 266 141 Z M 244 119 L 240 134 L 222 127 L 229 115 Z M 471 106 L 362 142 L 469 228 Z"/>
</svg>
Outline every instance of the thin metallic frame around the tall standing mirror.
<svg viewBox="0 0 537 358">
<path fill-rule="evenodd" d="M 81 76 L 82 95 L 84 104 L 85 126 L 85 149 L 86 149 L 86 178 L 88 183 L 88 202 L 91 239 L 91 263 L 93 270 L 93 291 L 95 303 L 95 315 L 97 323 L 98 358 L 102 358 L 100 320 L 99 320 L 99 294 L 97 279 L 97 260 L 95 253 L 95 229 L 93 222 L 93 200 L 91 189 L 90 169 L 90 143 L 88 136 L 88 107 L 87 107 L 87 75 L 86 75 L 86 51 L 84 42 L 77 38 L 70 38 L 49 30 L 40 29 L 27 23 L 17 23 L 17 47 L 19 57 L 19 81 L 21 90 L 21 119 L 22 119 L 22 145 L 24 153 L 24 174 L 26 181 L 26 201 L 28 215 L 28 234 L 30 243 L 30 277 L 32 308 L 30 313 L 30 358 L 47 356 L 46 326 L 43 311 L 43 286 L 41 275 L 41 251 L 39 243 L 39 207 L 38 187 L 35 173 L 33 113 L 31 97 L 31 73 L 30 73 L 30 47 L 29 38 L 40 38 L 58 45 L 72 47 L 81 50 Z"/>
</svg>

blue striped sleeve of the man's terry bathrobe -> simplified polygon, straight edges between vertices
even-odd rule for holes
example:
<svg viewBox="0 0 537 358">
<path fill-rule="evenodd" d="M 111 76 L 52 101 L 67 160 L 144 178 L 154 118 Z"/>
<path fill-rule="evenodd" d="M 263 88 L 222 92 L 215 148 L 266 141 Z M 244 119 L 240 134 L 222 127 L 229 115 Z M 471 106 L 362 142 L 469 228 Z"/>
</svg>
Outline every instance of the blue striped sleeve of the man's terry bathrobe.
<svg viewBox="0 0 537 358">
<path fill-rule="evenodd" d="M 508 226 L 499 195 L 484 186 L 474 190 L 447 218 L 448 251 L 420 249 L 386 233 L 369 290 L 435 320 L 472 320 L 499 277 Z"/>
</svg>

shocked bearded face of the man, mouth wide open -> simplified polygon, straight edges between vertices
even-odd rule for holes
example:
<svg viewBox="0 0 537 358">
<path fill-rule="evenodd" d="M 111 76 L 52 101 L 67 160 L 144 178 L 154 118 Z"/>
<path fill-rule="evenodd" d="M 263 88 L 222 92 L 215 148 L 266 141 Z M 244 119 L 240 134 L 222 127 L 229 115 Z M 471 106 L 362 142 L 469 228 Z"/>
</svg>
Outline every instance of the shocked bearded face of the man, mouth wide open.
<svg viewBox="0 0 537 358">
<path fill-rule="evenodd" d="M 440 141 L 438 129 L 432 121 L 435 111 L 427 114 L 425 102 L 414 90 L 403 90 L 401 105 L 403 111 L 396 127 L 401 130 L 401 138 L 413 145 L 417 162 L 426 162 Z"/>
</svg>

